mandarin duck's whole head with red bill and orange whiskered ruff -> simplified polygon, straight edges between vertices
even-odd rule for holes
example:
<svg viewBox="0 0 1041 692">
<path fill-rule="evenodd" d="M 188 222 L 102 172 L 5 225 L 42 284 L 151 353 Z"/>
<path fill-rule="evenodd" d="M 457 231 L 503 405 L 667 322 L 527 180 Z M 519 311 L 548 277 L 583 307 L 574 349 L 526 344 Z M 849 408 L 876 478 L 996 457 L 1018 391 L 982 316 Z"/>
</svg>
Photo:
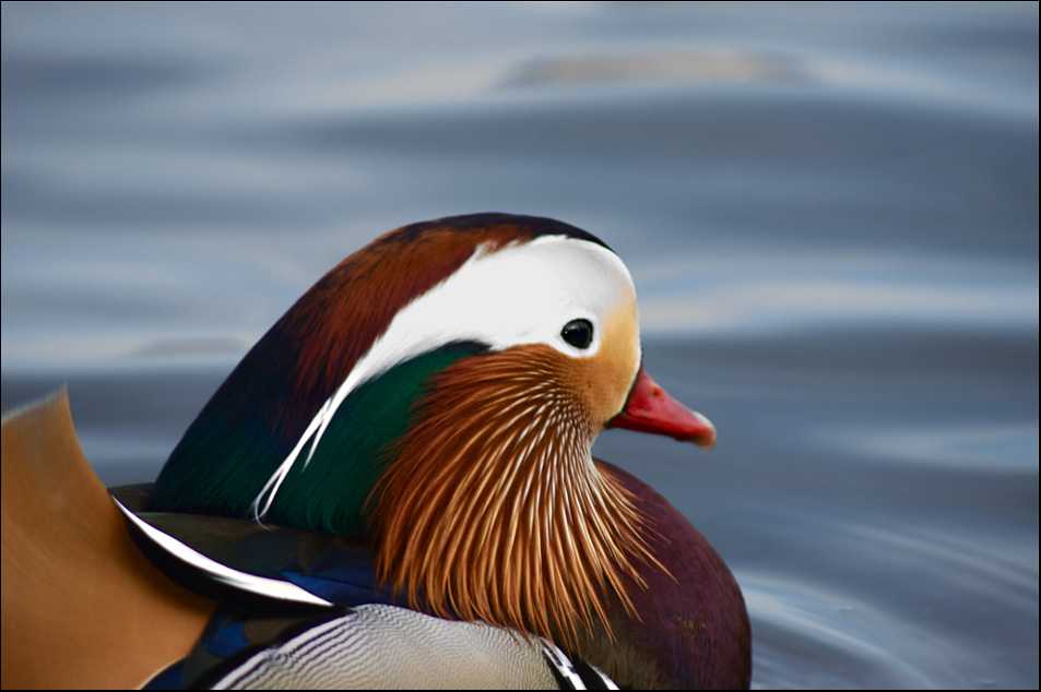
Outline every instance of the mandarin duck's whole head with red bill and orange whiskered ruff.
<svg viewBox="0 0 1041 692">
<path fill-rule="evenodd" d="M 443 218 L 305 294 L 188 429 L 153 509 L 367 534 L 427 611 L 569 636 L 654 561 L 591 456 L 612 426 L 715 436 L 643 371 L 618 256 L 552 219 Z"/>
</svg>

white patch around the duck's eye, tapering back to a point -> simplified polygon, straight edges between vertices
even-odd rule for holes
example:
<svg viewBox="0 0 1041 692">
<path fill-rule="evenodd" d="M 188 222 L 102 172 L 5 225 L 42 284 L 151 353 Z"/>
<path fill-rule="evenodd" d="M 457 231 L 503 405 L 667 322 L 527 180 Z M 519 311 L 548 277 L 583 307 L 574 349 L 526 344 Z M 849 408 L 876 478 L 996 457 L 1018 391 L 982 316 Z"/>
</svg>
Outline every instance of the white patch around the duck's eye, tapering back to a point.
<svg viewBox="0 0 1041 692">
<path fill-rule="evenodd" d="M 340 404 L 364 382 L 457 342 L 486 344 L 496 351 L 546 344 L 567 356 L 589 357 L 600 349 L 607 315 L 632 295 L 632 278 L 622 260 L 588 240 L 541 236 L 492 252 L 478 246 L 459 270 L 402 308 L 358 359 L 253 501 L 256 516 L 267 513 L 308 442 L 310 461 Z M 577 348 L 560 335 L 568 322 L 579 319 L 593 326 L 587 348 Z"/>
</svg>

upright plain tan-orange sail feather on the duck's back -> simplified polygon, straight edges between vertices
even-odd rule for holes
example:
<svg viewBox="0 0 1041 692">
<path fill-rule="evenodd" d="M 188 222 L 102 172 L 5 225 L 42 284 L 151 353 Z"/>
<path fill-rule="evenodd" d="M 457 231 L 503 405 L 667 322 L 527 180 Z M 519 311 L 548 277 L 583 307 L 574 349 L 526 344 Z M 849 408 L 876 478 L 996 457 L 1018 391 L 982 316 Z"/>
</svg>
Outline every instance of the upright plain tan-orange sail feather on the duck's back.
<svg viewBox="0 0 1041 692">
<path fill-rule="evenodd" d="M 132 688 L 213 610 L 134 546 L 80 449 L 64 390 L 2 423 L 2 685 Z"/>
</svg>

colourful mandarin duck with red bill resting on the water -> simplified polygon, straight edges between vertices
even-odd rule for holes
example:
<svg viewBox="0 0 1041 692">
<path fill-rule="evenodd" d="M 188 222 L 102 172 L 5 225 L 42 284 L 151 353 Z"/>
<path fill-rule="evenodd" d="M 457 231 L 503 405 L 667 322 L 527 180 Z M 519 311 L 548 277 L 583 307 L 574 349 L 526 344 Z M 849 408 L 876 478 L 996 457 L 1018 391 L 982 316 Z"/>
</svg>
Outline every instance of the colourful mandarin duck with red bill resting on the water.
<svg viewBox="0 0 1041 692">
<path fill-rule="evenodd" d="M 715 431 L 647 374 L 632 279 L 573 226 L 442 218 L 352 254 L 154 485 L 106 494 L 64 395 L 3 425 L 4 687 L 749 683 L 725 563 L 592 457 L 604 428 Z"/>
</svg>

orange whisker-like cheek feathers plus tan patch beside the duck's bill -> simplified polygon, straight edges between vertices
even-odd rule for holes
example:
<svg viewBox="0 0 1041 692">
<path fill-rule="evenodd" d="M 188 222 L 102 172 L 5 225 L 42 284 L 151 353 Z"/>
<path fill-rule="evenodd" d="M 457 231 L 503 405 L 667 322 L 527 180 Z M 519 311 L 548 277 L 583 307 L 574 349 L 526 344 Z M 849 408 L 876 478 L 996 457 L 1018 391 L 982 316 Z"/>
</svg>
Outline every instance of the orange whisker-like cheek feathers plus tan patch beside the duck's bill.
<svg viewBox="0 0 1041 692">
<path fill-rule="evenodd" d="M 628 492 L 590 449 L 639 368 L 636 300 L 619 291 L 601 347 L 543 344 L 438 373 L 393 448 L 372 514 L 378 569 L 430 612 L 573 641 L 654 562 Z"/>
</svg>

